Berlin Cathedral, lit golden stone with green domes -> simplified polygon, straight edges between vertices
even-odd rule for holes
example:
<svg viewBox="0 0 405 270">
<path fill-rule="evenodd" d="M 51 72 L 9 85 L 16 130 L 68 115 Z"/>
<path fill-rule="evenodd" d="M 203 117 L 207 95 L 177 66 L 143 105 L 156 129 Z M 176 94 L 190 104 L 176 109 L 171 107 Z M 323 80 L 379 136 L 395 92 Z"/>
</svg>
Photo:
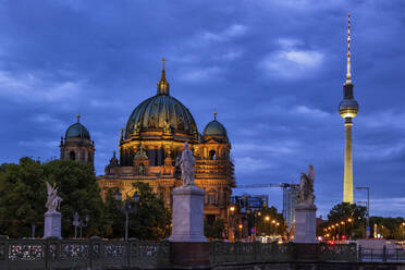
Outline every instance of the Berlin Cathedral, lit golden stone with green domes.
<svg viewBox="0 0 405 270">
<path fill-rule="evenodd" d="M 187 142 L 196 158 L 194 183 L 206 192 L 205 217 L 209 222 L 217 218 L 226 221 L 226 207 L 235 186 L 226 128 L 214 113 L 202 134 L 198 133 L 189 110 L 170 95 L 164 59 L 157 88 L 155 96 L 134 109 L 125 130 L 121 130 L 119 157 L 114 152 L 105 175 L 97 176 L 101 196 L 105 197 L 109 188 L 119 188 L 125 197 L 132 192 L 133 183 L 144 182 L 171 209 L 171 192 L 182 185 L 175 163 Z M 60 149 L 61 159 L 94 164 L 95 143 L 78 115 L 62 137 Z"/>
</svg>

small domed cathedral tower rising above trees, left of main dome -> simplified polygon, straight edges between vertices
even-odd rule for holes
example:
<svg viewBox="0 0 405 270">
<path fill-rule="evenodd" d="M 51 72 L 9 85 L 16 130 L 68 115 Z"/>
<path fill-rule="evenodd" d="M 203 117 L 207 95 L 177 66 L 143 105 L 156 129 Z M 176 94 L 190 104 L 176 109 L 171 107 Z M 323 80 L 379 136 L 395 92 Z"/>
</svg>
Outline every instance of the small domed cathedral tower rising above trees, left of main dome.
<svg viewBox="0 0 405 270">
<path fill-rule="evenodd" d="M 77 114 L 77 122 L 68 127 L 65 136 L 61 137 L 61 159 L 76 160 L 82 163 L 94 165 L 95 142 L 90 133 L 81 123 L 81 115 Z"/>
</svg>

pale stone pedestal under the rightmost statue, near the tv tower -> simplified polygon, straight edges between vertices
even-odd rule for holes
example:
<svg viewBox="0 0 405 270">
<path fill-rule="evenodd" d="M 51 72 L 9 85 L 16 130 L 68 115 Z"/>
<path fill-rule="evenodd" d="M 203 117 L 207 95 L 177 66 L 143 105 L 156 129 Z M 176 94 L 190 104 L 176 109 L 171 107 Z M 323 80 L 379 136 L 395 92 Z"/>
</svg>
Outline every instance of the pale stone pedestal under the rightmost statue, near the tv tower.
<svg viewBox="0 0 405 270">
<path fill-rule="evenodd" d="M 317 241 L 317 207 L 315 205 L 296 205 L 294 243 L 318 243 Z"/>
</svg>

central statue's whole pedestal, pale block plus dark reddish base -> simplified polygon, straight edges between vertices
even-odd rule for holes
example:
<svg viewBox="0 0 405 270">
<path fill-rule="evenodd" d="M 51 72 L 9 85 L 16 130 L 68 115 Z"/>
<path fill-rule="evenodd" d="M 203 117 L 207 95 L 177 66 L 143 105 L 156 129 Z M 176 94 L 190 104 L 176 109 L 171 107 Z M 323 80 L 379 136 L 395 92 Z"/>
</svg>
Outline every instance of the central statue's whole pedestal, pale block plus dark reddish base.
<svg viewBox="0 0 405 270">
<path fill-rule="evenodd" d="M 173 194 L 171 262 L 175 267 L 209 265 L 209 244 L 204 235 L 204 195 L 197 186 L 181 186 Z"/>
</svg>

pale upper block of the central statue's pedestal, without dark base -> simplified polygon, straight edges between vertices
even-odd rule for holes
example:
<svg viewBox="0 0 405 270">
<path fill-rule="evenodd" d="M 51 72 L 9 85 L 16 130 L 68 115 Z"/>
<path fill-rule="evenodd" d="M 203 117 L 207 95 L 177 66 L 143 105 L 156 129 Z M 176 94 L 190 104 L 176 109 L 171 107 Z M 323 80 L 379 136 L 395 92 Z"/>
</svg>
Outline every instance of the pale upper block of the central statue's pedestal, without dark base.
<svg viewBox="0 0 405 270">
<path fill-rule="evenodd" d="M 181 186 L 173 194 L 173 226 L 170 242 L 207 242 L 204 235 L 204 195 L 197 186 Z"/>
</svg>

